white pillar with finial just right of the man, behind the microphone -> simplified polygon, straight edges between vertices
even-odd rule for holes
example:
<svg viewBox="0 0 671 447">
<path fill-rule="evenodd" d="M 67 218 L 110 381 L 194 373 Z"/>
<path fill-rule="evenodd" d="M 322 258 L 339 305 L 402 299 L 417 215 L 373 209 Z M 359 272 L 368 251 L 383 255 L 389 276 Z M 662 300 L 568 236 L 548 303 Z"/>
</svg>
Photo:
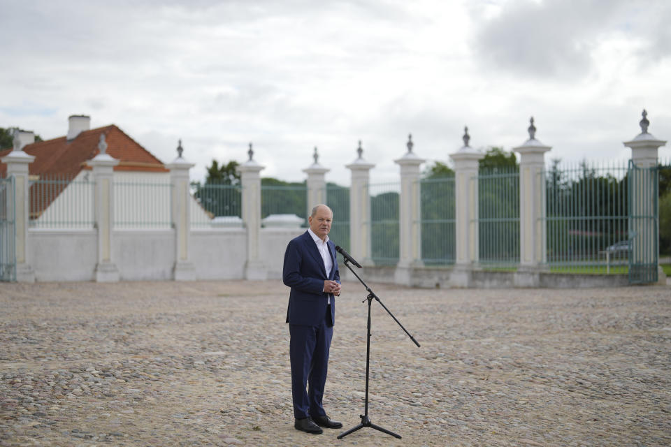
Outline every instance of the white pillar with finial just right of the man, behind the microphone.
<svg viewBox="0 0 671 447">
<path fill-rule="evenodd" d="M 345 168 L 352 171 L 349 187 L 349 254 L 363 266 L 373 265 L 370 245 L 370 196 L 368 182 L 373 163 L 363 159 L 361 141 L 356 149 L 359 156 Z"/>
</svg>

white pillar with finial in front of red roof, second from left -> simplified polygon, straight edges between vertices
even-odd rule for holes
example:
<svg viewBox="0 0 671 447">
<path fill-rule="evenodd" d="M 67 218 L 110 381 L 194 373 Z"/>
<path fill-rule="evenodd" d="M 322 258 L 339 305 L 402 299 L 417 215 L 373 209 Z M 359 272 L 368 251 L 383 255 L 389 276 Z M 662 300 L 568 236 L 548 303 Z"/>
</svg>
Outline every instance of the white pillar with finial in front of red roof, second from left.
<svg viewBox="0 0 671 447">
<path fill-rule="evenodd" d="M 96 182 L 94 194 L 95 221 L 98 228 L 98 263 L 96 264 L 96 281 L 119 281 L 119 270 L 113 258 L 113 222 L 114 222 L 114 167 L 119 160 L 106 154 L 107 143 L 105 134 L 101 133 L 98 143 L 100 153 L 88 162 L 93 168 Z"/>
</svg>

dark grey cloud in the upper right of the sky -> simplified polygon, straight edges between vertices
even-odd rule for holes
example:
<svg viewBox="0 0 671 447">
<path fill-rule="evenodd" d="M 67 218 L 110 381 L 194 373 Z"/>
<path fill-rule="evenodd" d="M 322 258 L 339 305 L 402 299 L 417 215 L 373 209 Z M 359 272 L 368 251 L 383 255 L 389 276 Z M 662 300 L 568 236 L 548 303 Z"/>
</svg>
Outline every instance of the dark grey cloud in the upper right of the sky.
<svg viewBox="0 0 671 447">
<path fill-rule="evenodd" d="M 510 1 L 498 16 L 479 20 L 473 49 L 495 71 L 582 78 L 593 67 L 591 53 L 599 38 L 619 30 L 626 32 L 627 20 L 637 18 L 637 4 L 641 2 Z M 496 72 L 492 75 L 496 76 Z"/>
</svg>

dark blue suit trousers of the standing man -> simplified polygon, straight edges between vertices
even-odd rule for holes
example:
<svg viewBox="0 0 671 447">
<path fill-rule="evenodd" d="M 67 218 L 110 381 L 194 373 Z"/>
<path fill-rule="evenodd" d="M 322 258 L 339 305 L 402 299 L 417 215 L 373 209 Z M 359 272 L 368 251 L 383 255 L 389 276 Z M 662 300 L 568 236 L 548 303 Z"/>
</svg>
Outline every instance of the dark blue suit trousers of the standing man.
<svg viewBox="0 0 671 447">
<path fill-rule="evenodd" d="M 291 359 L 291 397 L 294 417 L 324 416 L 324 386 L 329 369 L 329 349 L 333 338 L 331 306 L 317 325 L 289 324 Z M 306 391 L 306 386 L 309 390 Z"/>
</svg>

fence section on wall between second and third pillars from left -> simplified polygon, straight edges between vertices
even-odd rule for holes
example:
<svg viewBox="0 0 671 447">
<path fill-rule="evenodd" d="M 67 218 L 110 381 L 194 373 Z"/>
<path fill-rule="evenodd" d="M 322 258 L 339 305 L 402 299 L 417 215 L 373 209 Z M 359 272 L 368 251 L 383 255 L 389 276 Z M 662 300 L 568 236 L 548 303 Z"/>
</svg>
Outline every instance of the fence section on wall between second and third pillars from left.
<svg viewBox="0 0 671 447">
<path fill-rule="evenodd" d="M 114 222 L 117 229 L 171 228 L 170 179 L 154 182 L 120 177 L 113 182 Z"/>
</svg>

